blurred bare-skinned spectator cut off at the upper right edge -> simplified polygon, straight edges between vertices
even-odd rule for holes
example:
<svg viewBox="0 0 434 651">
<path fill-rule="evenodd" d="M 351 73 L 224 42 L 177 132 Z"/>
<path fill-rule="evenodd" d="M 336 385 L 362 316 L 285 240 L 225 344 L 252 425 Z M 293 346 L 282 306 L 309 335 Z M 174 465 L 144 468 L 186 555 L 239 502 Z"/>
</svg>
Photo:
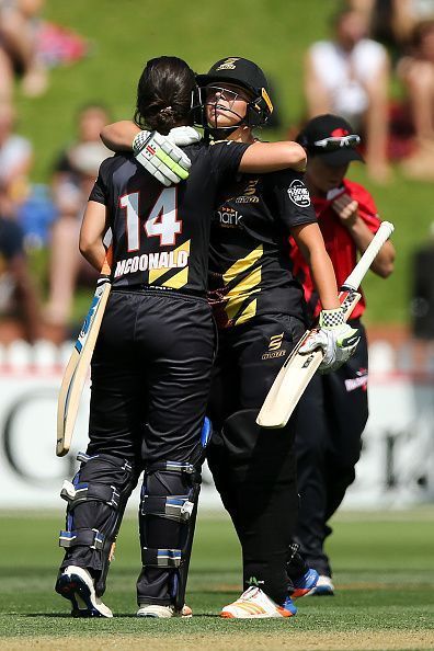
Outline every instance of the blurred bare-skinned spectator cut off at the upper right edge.
<svg viewBox="0 0 434 651">
<path fill-rule="evenodd" d="M 398 73 L 410 100 L 415 150 L 402 163 L 414 179 L 434 180 L 434 20 L 415 26 L 411 54 L 402 58 Z"/>
</svg>

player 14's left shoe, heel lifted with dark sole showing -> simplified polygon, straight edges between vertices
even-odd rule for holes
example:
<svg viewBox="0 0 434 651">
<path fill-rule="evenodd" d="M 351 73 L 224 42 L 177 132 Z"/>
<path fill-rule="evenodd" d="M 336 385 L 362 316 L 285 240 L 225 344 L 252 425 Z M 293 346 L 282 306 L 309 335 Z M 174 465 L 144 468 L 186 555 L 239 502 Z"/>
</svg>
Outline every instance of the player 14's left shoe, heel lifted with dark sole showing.
<svg viewBox="0 0 434 651">
<path fill-rule="evenodd" d="M 113 613 L 95 594 L 88 570 L 68 566 L 56 582 L 56 592 L 72 604 L 72 617 L 113 617 Z"/>
</svg>

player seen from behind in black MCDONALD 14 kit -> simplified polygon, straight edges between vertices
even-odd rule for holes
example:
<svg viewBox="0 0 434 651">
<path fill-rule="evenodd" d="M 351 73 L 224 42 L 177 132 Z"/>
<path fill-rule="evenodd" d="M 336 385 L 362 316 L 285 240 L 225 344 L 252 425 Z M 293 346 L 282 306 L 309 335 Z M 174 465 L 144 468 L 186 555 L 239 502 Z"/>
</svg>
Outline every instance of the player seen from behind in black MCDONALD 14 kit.
<svg viewBox="0 0 434 651">
<path fill-rule="evenodd" d="M 79 617 L 112 617 L 101 597 L 123 513 L 142 471 L 137 615 L 191 615 L 184 595 L 216 350 L 206 300 L 212 214 L 238 169 L 273 171 L 305 162 L 295 142 L 204 145 L 189 126 L 195 89 L 185 61 L 148 61 L 136 121 L 169 135 L 140 130 L 136 156 L 119 153 L 102 163 L 81 228 L 80 250 L 95 269 L 103 265 L 108 229 L 114 259 L 92 359 L 90 442 L 61 492 L 68 507 L 56 591 Z M 176 184 L 180 179 L 186 181 Z"/>
</svg>

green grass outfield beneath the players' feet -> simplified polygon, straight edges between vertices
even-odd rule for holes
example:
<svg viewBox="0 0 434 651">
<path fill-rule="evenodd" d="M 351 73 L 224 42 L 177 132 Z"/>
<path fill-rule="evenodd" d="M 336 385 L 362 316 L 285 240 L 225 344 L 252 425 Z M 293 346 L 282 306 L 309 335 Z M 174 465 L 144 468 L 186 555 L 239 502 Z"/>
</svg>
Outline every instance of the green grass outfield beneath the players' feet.
<svg viewBox="0 0 434 651">
<path fill-rule="evenodd" d="M 290 620 L 260 621 L 217 617 L 240 592 L 240 555 L 230 523 L 208 514 L 199 518 L 187 591 L 193 619 L 134 617 L 139 550 L 132 517 L 124 522 L 105 595 L 115 619 L 68 617 L 68 602 L 53 592 L 61 519 L 0 517 L 0 650 L 434 649 L 433 507 L 343 513 L 329 546 L 336 595 L 298 601 Z"/>
</svg>

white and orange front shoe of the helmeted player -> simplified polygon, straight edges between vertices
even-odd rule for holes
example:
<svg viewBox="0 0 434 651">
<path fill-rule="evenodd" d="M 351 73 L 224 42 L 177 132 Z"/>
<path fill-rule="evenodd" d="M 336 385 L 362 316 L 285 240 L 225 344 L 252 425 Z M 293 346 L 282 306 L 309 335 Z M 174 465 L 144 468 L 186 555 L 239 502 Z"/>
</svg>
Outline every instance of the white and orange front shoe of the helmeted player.
<svg viewBox="0 0 434 651">
<path fill-rule="evenodd" d="M 297 608 L 289 597 L 283 606 L 275 604 L 260 587 L 253 585 L 232 604 L 225 606 L 220 617 L 227 619 L 265 619 L 271 617 L 293 617 Z"/>
</svg>

